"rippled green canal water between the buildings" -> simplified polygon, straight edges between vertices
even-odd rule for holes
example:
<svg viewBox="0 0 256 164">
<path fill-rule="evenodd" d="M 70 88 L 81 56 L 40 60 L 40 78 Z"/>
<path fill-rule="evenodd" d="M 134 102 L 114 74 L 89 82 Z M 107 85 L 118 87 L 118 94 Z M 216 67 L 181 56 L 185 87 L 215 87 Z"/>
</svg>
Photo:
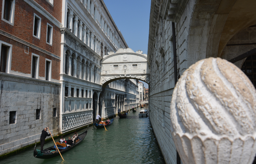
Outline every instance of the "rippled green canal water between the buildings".
<svg viewBox="0 0 256 164">
<path fill-rule="evenodd" d="M 33 157 L 34 148 L 29 148 L 17 155 L 0 160 L 1 164 L 96 164 L 96 163 L 164 163 L 163 156 L 157 145 L 149 118 L 139 118 L 137 112 L 128 112 L 127 118 L 114 118 L 112 125 L 106 127 L 108 131 L 89 126 L 87 136 L 83 142 L 62 154 L 51 159 L 37 159 Z M 87 128 L 77 131 L 78 134 Z M 64 135 L 66 140 L 73 134 Z M 55 142 L 59 139 L 55 139 Z M 44 148 L 54 145 L 47 142 Z M 40 145 L 37 145 L 40 149 Z"/>
</svg>

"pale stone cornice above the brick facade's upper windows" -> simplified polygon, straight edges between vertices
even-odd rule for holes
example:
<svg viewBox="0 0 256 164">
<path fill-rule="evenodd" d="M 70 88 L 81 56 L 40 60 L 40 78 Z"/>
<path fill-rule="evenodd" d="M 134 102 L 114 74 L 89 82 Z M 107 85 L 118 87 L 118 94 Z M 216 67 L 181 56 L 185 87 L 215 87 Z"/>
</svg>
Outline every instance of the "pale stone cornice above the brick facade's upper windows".
<svg viewBox="0 0 256 164">
<path fill-rule="evenodd" d="M 62 24 L 56 18 L 54 18 L 48 11 L 46 11 L 42 6 L 40 6 L 38 3 L 36 3 L 33 0 L 23 0 L 23 1 L 25 1 L 28 5 L 33 7 L 36 11 L 41 13 L 45 18 L 50 20 L 55 26 L 59 28 L 62 27 Z"/>
</svg>

